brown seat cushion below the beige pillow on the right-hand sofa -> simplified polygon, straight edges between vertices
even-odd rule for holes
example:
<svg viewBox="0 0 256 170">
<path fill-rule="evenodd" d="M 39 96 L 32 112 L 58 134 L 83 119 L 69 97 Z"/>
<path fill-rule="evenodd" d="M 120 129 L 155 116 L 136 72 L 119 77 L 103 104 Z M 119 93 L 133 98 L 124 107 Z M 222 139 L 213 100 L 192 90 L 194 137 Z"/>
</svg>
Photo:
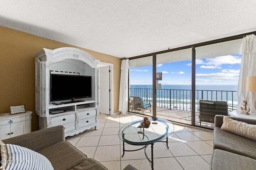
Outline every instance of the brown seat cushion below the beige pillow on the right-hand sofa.
<svg viewBox="0 0 256 170">
<path fill-rule="evenodd" d="M 214 128 L 213 148 L 227 150 L 256 159 L 256 142 L 220 129 Z"/>
</svg>

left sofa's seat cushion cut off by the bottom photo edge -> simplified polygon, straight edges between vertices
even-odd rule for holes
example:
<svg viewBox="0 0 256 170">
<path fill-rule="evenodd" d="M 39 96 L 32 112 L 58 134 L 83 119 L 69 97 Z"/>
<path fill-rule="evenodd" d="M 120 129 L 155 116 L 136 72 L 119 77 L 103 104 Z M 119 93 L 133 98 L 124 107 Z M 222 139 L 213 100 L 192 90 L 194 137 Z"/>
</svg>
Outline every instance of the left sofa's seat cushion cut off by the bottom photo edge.
<svg viewBox="0 0 256 170">
<path fill-rule="evenodd" d="M 92 158 L 87 158 L 71 170 L 107 170 L 107 168 L 105 168 L 96 160 Z"/>
</svg>

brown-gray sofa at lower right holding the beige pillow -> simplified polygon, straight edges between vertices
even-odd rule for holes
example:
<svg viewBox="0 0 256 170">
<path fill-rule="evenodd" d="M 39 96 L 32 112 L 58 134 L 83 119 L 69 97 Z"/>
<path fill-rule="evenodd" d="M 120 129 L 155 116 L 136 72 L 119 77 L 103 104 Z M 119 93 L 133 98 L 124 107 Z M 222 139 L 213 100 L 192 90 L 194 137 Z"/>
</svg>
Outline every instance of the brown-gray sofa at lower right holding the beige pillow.
<svg viewBox="0 0 256 170">
<path fill-rule="evenodd" d="M 256 125 L 255 119 L 231 117 Z M 256 142 L 220 129 L 223 115 L 215 116 L 211 170 L 256 170 Z"/>
</svg>

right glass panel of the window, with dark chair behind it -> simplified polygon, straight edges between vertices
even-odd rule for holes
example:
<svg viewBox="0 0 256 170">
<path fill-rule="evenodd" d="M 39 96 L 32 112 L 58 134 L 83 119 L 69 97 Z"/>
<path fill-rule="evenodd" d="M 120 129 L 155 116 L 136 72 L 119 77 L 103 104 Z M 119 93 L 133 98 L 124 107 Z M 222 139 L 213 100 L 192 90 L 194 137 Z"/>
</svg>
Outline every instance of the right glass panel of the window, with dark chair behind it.
<svg viewBox="0 0 256 170">
<path fill-rule="evenodd" d="M 241 43 L 237 39 L 196 47 L 196 125 L 213 128 L 214 115 L 226 112 L 226 104 L 228 111 L 236 109 Z"/>
</svg>

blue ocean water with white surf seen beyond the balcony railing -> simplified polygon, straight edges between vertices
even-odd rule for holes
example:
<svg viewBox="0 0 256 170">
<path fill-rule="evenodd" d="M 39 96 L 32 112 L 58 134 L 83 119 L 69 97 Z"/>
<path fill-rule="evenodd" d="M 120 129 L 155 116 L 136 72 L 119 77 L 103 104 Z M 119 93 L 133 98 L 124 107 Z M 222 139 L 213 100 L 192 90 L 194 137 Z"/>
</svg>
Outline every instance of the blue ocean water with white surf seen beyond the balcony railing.
<svg viewBox="0 0 256 170">
<path fill-rule="evenodd" d="M 236 90 L 236 85 L 196 85 L 196 111 L 200 100 L 226 101 L 229 109 L 235 109 Z M 152 85 L 130 85 L 130 96 L 152 102 Z M 156 90 L 156 105 L 191 111 L 191 85 L 162 85 Z"/>
</svg>

